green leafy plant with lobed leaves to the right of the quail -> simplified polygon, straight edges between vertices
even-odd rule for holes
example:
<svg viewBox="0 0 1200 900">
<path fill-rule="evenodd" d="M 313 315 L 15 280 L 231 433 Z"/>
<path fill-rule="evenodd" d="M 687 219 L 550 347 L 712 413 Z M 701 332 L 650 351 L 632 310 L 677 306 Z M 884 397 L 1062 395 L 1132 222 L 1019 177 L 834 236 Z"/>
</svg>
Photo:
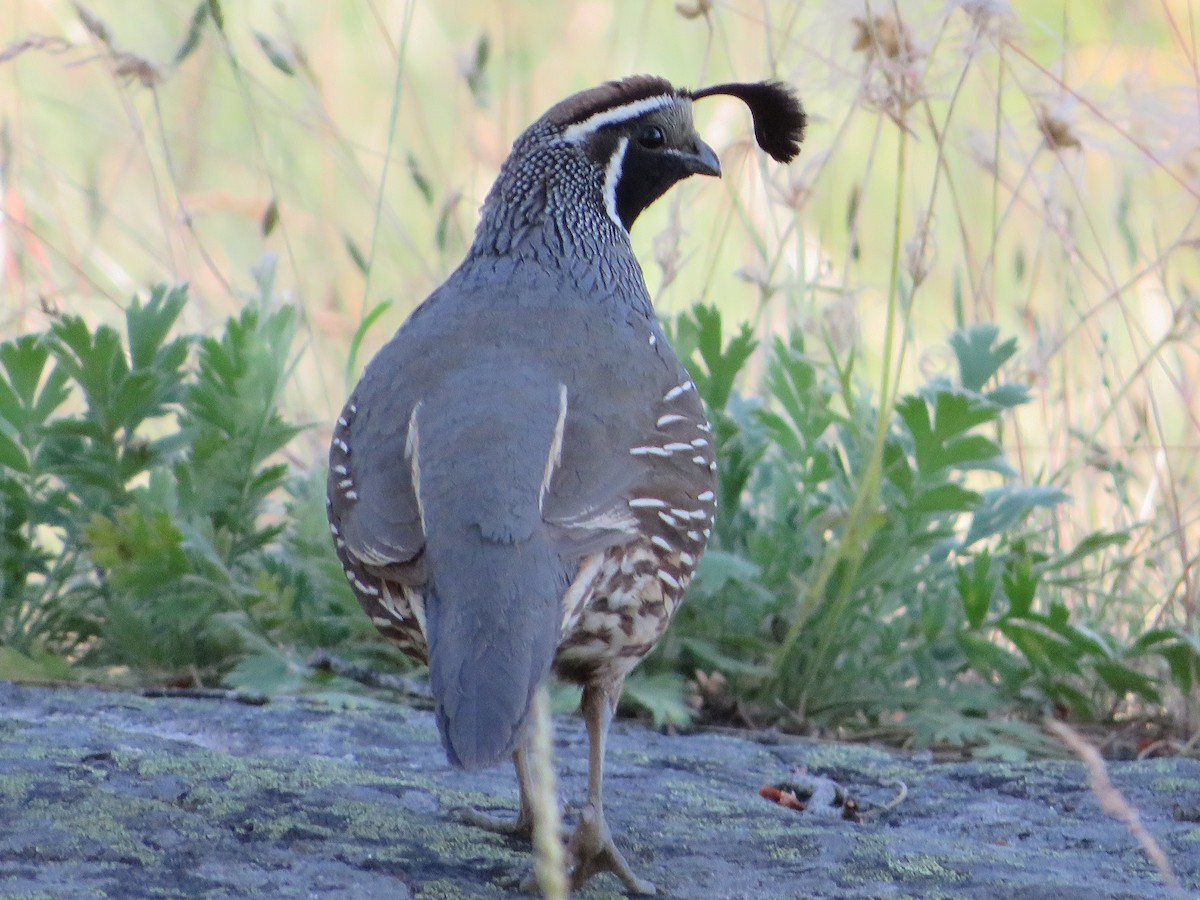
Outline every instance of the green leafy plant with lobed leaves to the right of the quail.
<svg viewBox="0 0 1200 900">
<path fill-rule="evenodd" d="M 877 420 L 865 391 L 793 331 L 758 352 L 762 396 L 739 395 L 732 385 L 756 349 L 745 328 L 722 343 L 713 308 L 685 316 L 676 342 L 715 419 L 721 505 L 649 672 L 716 670 L 763 714 L 782 707 L 793 720 L 926 744 L 1040 744 L 989 715 L 1157 703 L 1154 670 L 1141 665 L 1154 655 L 1174 656 L 1181 688 L 1194 683 L 1200 656 L 1183 634 L 1126 642 L 1073 620 L 1063 598 L 1086 589 L 1079 566 L 1128 534 L 1056 552 L 1038 528 L 1037 510 L 1066 497 L 1018 481 L 995 438 L 1028 391 L 1000 382 L 1015 342 L 994 326 L 952 335 L 956 379 L 896 401 L 857 552 L 842 529 Z"/>
</svg>

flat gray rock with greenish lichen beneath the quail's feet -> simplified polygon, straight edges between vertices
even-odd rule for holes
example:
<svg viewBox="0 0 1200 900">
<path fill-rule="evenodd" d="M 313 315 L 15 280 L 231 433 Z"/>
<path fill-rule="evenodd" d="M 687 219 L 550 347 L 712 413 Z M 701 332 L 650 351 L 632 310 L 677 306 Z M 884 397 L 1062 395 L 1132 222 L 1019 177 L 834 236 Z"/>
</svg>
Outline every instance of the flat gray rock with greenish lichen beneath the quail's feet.
<svg viewBox="0 0 1200 900">
<path fill-rule="evenodd" d="M 577 800 L 578 720 L 559 718 L 556 755 Z M 818 797 L 833 799 L 830 779 L 870 821 L 760 797 L 802 766 Z M 1196 893 L 1200 762 L 1110 773 Z M 871 818 L 899 781 L 906 798 Z M 672 898 L 1172 896 L 1070 762 L 944 764 L 618 722 L 606 800 L 626 858 Z M 428 713 L 0 683 L 4 898 L 505 896 L 527 852 L 457 822 L 464 805 L 512 810 L 512 773 L 450 769 Z M 602 876 L 583 896 L 618 887 Z"/>
</svg>

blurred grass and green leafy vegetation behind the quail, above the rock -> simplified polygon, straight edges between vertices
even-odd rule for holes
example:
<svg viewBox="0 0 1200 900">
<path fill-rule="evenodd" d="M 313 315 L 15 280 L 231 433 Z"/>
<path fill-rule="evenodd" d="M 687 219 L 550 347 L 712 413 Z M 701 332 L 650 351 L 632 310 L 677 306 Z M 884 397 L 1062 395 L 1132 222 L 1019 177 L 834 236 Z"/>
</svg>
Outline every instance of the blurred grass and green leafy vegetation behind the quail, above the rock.
<svg viewBox="0 0 1200 900">
<path fill-rule="evenodd" d="M 800 158 L 698 106 L 724 179 L 632 235 L 725 500 L 634 707 L 1195 752 L 1198 29 L 1184 0 L 8 0 L 0 677 L 365 702 L 406 664 L 323 523 L 361 366 L 550 104 L 775 77 Z"/>
</svg>

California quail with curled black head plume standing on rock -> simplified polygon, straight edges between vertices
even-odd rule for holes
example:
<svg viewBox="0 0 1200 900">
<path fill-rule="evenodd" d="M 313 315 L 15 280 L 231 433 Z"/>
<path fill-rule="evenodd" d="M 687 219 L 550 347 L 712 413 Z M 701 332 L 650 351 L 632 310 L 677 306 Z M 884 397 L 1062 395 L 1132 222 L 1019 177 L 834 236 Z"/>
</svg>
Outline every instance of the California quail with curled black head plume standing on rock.
<svg viewBox="0 0 1200 900">
<path fill-rule="evenodd" d="M 512 146 L 467 258 L 367 366 L 334 430 L 329 521 L 372 622 L 430 665 L 450 761 L 510 754 L 529 834 L 524 725 L 553 668 L 582 685 L 588 805 L 575 886 L 653 892 L 613 845 L 604 744 L 708 541 L 712 428 L 629 241 L 673 184 L 719 175 L 692 100 L 749 106 L 790 161 L 805 116 L 779 83 L 700 91 L 638 76 L 571 96 Z"/>
</svg>

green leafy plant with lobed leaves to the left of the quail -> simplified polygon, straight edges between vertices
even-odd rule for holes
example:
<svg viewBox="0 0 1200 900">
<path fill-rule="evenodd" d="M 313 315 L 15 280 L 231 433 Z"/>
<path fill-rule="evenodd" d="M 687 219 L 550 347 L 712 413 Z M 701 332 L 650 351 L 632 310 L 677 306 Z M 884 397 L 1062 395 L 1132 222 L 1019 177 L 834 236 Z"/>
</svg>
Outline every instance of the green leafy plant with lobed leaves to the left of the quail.
<svg viewBox="0 0 1200 900">
<path fill-rule="evenodd" d="M 160 287 L 124 336 L 65 316 L 0 346 L 2 671 L 215 683 L 366 637 L 323 488 L 280 456 L 295 313 L 259 287 L 216 337 L 170 337 L 186 290 Z"/>
</svg>

